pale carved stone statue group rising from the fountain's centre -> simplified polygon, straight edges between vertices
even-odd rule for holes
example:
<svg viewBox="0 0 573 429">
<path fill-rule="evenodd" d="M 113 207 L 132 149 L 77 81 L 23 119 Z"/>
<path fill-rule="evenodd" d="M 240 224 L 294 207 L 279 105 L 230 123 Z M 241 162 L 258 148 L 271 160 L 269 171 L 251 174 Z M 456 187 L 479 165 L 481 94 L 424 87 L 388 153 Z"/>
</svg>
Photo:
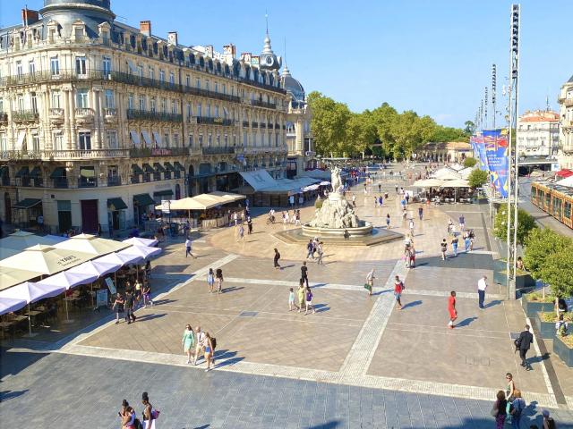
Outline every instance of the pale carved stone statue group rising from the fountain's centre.
<svg viewBox="0 0 573 429">
<path fill-rule="evenodd" d="M 328 228 L 336 230 L 347 230 L 349 228 L 359 228 L 363 223 L 358 221 L 352 205 L 344 196 L 344 185 L 340 178 L 340 169 L 332 168 L 330 184 L 332 192 L 329 198 L 322 202 L 322 206 L 316 209 L 314 219 L 308 226 L 312 228 Z"/>
</svg>

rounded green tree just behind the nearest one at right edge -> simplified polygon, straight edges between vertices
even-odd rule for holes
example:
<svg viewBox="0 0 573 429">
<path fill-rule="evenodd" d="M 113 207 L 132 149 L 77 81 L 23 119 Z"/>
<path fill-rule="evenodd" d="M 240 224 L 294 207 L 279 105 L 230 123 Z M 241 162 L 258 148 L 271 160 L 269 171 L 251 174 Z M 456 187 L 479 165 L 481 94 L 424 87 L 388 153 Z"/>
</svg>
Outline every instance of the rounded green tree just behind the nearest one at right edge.
<svg viewBox="0 0 573 429">
<path fill-rule="evenodd" d="M 566 248 L 571 248 L 573 240 L 549 228 L 535 228 L 529 232 L 524 244 L 523 263 L 536 279 L 541 279 L 543 266 L 547 265 L 545 260 L 552 254 L 563 255 Z M 571 266 L 573 265 L 569 265 L 568 270 L 569 276 L 573 278 Z"/>
</svg>

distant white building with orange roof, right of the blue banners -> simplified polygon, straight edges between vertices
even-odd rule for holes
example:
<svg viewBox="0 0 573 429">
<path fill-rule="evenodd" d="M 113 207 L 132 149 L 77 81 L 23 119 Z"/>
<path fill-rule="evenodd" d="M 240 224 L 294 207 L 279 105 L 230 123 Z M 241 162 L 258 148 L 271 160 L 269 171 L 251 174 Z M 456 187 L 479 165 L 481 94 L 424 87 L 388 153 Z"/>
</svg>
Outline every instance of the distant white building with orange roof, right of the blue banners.
<svg viewBox="0 0 573 429">
<path fill-rule="evenodd" d="M 526 112 L 517 118 L 519 156 L 553 156 L 559 149 L 559 114 L 548 110 Z"/>
</svg>

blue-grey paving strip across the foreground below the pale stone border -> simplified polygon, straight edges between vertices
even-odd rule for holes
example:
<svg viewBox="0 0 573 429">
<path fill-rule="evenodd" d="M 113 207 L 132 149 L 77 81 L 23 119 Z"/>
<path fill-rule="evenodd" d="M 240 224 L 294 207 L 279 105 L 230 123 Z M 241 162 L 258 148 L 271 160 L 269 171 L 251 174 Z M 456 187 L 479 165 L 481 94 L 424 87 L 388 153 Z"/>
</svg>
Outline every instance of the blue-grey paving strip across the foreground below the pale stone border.
<svg viewBox="0 0 573 429">
<path fill-rule="evenodd" d="M 490 401 L 387 391 L 260 375 L 192 371 L 64 354 L 2 351 L 0 417 L 7 427 L 118 427 L 123 399 L 141 415 L 141 392 L 161 411 L 158 427 L 491 428 Z M 72 386 L 82 386 L 81 391 Z M 570 414 L 552 410 L 560 429 Z M 83 422 L 83 423 L 79 423 Z M 541 425 L 530 404 L 521 427 Z"/>
</svg>

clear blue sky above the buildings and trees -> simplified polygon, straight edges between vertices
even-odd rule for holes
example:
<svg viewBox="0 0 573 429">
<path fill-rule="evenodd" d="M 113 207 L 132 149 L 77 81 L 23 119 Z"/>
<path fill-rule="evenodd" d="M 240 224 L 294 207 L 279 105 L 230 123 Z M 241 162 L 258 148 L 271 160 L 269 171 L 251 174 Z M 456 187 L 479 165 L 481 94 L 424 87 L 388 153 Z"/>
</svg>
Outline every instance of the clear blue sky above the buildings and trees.
<svg viewBox="0 0 573 429">
<path fill-rule="evenodd" d="M 40 0 L 28 0 L 39 8 Z M 20 21 L 18 0 L 0 0 L 0 27 Z M 273 49 L 307 92 L 345 102 L 354 111 L 383 102 L 437 122 L 474 120 L 498 65 L 498 88 L 509 68 L 509 8 L 504 0 L 112 0 L 121 20 L 153 33 L 177 30 L 188 45 L 231 42 L 259 53 L 265 11 Z M 560 86 L 573 74 L 573 2 L 526 0 L 522 6 L 519 110 L 557 108 Z M 569 17 L 569 18 L 568 18 Z M 568 30 L 569 28 L 569 30 Z M 500 92 L 500 90 L 499 90 Z M 503 110 L 498 96 L 498 110 Z M 488 109 L 491 111 L 491 108 Z M 490 116 L 491 117 L 491 116 Z"/>
</svg>

